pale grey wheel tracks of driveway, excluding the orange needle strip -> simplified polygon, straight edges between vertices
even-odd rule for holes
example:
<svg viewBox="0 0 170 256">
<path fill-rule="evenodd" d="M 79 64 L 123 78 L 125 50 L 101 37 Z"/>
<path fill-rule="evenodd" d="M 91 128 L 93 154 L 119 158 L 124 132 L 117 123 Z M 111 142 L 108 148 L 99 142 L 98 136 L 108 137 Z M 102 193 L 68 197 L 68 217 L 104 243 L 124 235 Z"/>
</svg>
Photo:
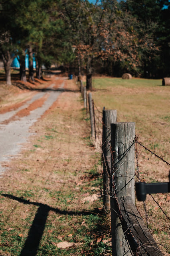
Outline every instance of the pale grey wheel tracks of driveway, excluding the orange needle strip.
<svg viewBox="0 0 170 256">
<path fill-rule="evenodd" d="M 55 80 L 56 82 L 54 84 L 51 84 L 44 90 L 44 92 L 38 92 L 31 100 L 24 104 L 24 106 L 18 108 L 18 110 L 0 114 L 0 174 L 6 170 L 6 168 L 2 166 L 2 162 L 9 161 L 12 156 L 16 156 L 16 154 L 20 152 L 22 144 L 27 141 L 31 134 L 34 134 L 29 132 L 30 126 L 43 115 L 43 113 L 57 100 L 58 96 L 62 93 L 62 90 L 64 90 L 64 79 L 58 89 L 53 88 L 56 86 L 57 78 L 55 78 Z M 47 99 L 43 102 L 41 107 L 30 111 L 29 115 L 20 117 L 17 120 L 16 118 L 12 120 L 12 116 L 17 115 L 17 113 L 24 110 L 24 108 L 29 108 L 30 104 L 33 104 L 36 100 L 41 99 L 44 96 L 47 96 Z M 10 122 L 8 124 L 2 124 L 2 122 L 7 119 L 11 119 Z"/>
</svg>

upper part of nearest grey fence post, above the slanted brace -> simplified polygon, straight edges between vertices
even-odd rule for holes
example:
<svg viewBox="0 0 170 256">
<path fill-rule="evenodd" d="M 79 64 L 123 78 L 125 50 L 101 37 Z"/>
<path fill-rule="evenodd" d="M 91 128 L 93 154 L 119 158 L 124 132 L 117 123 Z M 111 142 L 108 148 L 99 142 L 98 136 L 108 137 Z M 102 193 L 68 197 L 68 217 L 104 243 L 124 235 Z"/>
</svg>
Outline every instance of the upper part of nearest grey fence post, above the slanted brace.
<svg viewBox="0 0 170 256">
<path fill-rule="evenodd" d="M 116 195 L 134 202 L 134 122 L 111 124 L 111 148 Z"/>
</svg>

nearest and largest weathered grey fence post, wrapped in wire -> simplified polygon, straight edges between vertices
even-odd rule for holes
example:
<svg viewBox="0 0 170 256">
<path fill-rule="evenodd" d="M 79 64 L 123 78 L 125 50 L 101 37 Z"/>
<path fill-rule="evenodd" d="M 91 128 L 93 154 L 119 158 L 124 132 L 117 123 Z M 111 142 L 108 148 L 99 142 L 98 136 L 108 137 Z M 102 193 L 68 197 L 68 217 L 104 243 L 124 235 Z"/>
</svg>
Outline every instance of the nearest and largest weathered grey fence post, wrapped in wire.
<svg viewBox="0 0 170 256">
<path fill-rule="evenodd" d="M 134 203 L 134 137 L 134 122 L 111 124 L 111 226 L 114 256 L 131 255 L 119 219 L 119 198 L 130 196 Z"/>
</svg>

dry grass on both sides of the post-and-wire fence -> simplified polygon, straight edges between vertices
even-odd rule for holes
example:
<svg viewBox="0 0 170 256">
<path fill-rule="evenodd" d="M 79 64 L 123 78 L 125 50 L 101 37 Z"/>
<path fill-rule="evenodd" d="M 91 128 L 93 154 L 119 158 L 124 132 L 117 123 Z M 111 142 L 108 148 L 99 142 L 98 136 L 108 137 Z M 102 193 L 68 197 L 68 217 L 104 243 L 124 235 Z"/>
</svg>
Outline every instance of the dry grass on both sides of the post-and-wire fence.
<svg viewBox="0 0 170 256">
<path fill-rule="evenodd" d="M 160 84 L 161 80 L 95 78 L 92 95 L 100 111 L 103 106 L 117 109 L 118 121 L 136 122 L 140 142 L 169 161 L 170 87 Z M 66 88 L 73 91 L 61 94 L 32 126 L 35 135 L 21 154 L 5 165 L 8 171 L 0 182 L 0 256 L 111 256 L 110 217 L 103 212 L 99 195 L 101 151 L 91 141 L 89 116 L 73 80 Z M 8 95 L 5 86 L 3 93 Z M 101 113 L 95 111 L 100 143 Z M 147 182 L 168 181 L 168 166 L 142 148 L 139 167 Z M 170 196 L 154 198 L 170 216 Z M 145 220 L 143 204 L 136 206 Z M 146 210 L 148 226 L 168 256 L 169 220 L 150 196 Z"/>
</svg>

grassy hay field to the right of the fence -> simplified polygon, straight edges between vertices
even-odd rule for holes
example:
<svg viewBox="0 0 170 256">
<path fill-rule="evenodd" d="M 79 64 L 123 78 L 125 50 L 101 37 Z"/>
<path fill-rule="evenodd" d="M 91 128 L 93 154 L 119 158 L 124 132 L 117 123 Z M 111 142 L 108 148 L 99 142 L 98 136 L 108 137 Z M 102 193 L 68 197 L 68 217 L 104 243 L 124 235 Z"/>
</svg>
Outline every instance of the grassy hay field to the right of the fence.
<svg viewBox="0 0 170 256">
<path fill-rule="evenodd" d="M 135 122 L 139 141 L 151 151 L 170 162 L 170 87 L 161 80 L 94 78 L 93 99 L 98 110 L 116 109 L 118 122 Z M 96 110 L 96 115 L 98 111 Z M 101 118 L 101 114 L 100 114 Z M 98 121 L 97 121 L 98 122 Z M 101 129 L 101 124 L 98 122 Z M 138 147 L 140 178 L 146 182 L 168 182 L 169 166 L 150 152 Z M 162 210 L 170 216 L 169 194 L 154 194 Z M 146 212 L 148 227 L 164 255 L 170 255 L 170 220 L 148 195 Z M 145 219 L 143 203 L 136 202 Z"/>
</svg>

